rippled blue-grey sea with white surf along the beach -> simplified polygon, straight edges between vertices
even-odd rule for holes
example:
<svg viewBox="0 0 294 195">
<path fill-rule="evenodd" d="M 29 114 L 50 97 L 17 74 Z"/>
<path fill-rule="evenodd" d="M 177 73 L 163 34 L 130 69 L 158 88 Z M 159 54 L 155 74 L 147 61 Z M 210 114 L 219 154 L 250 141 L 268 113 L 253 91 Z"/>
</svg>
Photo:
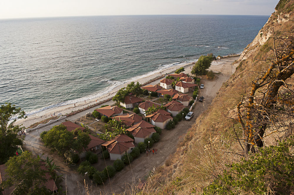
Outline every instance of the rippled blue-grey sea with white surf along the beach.
<svg viewBox="0 0 294 195">
<path fill-rule="evenodd" d="M 269 16 L 148 15 L 0 20 L 0 105 L 28 115 L 99 97 L 122 83 L 241 53 Z"/>
</svg>

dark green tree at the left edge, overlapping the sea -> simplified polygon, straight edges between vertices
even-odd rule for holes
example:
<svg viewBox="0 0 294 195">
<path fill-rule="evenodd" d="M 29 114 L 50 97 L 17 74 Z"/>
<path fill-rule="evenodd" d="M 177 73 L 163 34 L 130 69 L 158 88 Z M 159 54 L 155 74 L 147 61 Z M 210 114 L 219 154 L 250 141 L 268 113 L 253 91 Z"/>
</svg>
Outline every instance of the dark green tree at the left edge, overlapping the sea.
<svg viewBox="0 0 294 195">
<path fill-rule="evenodd" d="M 9 123 L 13 116 L 17 116 Z M 26 118 L 21 108 L 16 108 L 11 103 L 2 104 L 0 107 L 0 164 L 4 164 L 9 157 L 14 156 L 19 145 L 23 145 L 17 133 L 24 127 L 14 125 L 16 119 Z"/>
</svg>

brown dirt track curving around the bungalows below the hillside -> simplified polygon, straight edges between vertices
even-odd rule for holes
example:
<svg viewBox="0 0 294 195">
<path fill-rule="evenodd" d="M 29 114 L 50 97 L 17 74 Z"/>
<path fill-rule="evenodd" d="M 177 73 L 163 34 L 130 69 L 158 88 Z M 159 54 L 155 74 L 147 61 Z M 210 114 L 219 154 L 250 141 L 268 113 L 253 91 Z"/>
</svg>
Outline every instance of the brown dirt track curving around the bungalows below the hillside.
<svg viewBox="0 0 294 195">
<path fill-rule="evenodd" d="M 152 152 L 149 153 L 148 156 L 146 156 L 146 154 L 141 154 L 131 163 L 131 166 L 128 165 L 124 167 L 121 172 L 118 172 L 113 178 L 111 178 L 110 182 L 107 180 L 104 186 L 93 187 L 94 193 L 91 194 L 100 194 L 98 193 L 99 191 L 101 191 L 102 194 L 121 193 L 126 186 L 130 186 L 132 183 L 137 184 L 139 179 L 144 180 L 146 174 L 148 174 L 153 168 L 156 169 L 163 165 L 165 160 L 176 151 L 177 144 L 183 139 L 183 136 L 193 125 L 196 118 L 211 104 L 223 82 L 227 81 L 230 75 L 235 71 L 235 67 L 231 66 L 231 64 L 237 59 L 238 57 L 234 57 L 224 59 L 217 64 L 213 63 L 211 69 L 221 73 L 217 74 L 217 79 L 214 79 L 213 81 L 208 81 L 206 79 L 201 80 L 201 83 L 204 84 L 205 88 L 199 91 L 200 95 L 205 97 L 205 101 L 203 103 L 197 101 L 193 108 L 195 116 L 191 121 L 181 121 L 176 125 L 175 129 L 163 130 L 161 140 L 153 146 L 154 148 L 157 148 L 157 154 L 152 155 Z M 93 108 L 93 110 L 94 109 L 95 108 Z M 84 116 L 85 113 L 79 113 L 77 116 L 67 118 L 67 120 L 75 121 L 78 118 L 81 118 L 81 116 Z M 63 121 L 40 128 L 39 132 L 41 133 L 44 130 L 49 130 L 52 126 L 59 125 L 61 122 Z M 54 159 L 56 165 L 61 167 L 59 173 L 64 174 L 63 177 L 66 178 L 66 181 L 64 180 L 63 182 L 63 189 L 67 189 L 67 194 L 85 194 L 85 190 L 83 190 L 83 180 L 86 179 L 86 181 L 88 181 L 88 179 L 84 176 L 78 175 L 73 168 L 66 167 L 61 157 L 57 156 L 56 153 L 51 153 L 49 149 L 44 147 L 39 140 L 38 132 L 31 131 L 27 133 L 25 143 L 28 150 L 31 150 L 38 155 L 45 153 L 44 157 L 49 156 Z M 101 159 L 99 160 L 102 161 Z M 80 187 L 78 187 L 77 184 Z"/>
</svg>

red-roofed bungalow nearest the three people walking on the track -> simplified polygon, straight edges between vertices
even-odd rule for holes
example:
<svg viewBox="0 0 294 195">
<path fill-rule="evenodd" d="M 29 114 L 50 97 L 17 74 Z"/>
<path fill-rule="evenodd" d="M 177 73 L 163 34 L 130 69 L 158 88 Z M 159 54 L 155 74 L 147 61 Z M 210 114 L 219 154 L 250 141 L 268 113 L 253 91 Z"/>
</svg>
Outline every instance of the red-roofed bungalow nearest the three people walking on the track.
<svg viewBox="0 0 294 195">
<path fill-rule="evenodd" d="M 118 135 L 113 140 L 105 142 L 101 144 L 105 146 L 110 154 L 110 160 L 121 159 L 123 155 L 127 153 L 131 153 L 134 145 L 134 140 L 127 135 Z"/>
</svg>

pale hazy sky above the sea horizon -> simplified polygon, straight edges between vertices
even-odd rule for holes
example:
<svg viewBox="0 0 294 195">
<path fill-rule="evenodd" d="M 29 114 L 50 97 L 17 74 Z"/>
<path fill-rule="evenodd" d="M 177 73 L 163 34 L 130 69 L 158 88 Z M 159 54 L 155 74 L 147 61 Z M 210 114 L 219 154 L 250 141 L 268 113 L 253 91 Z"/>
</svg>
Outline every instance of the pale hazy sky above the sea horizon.
<svg viewBox="0 0 294 195">
<path fill-rule="evenodd" d="M 270 15 L 279 0 L 0 0 L 0 18 L 225 14 Z"/>
</svg>

